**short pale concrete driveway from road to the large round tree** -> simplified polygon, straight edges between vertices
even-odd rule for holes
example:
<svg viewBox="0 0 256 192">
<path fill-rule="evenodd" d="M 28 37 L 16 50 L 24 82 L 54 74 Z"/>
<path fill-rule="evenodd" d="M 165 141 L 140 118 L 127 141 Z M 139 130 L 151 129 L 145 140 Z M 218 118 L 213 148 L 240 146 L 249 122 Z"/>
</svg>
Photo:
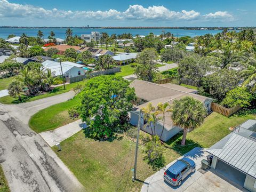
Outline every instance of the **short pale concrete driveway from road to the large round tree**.
<svg viewBox="0 0 256 192">
<path fill-rule="evenodd" d="M 39 135 L 52 147 L 84 128 L 86 128 L 86 124 L 81 119 L 78 119 L 55 130 L 39 133 Z"/>
</svg>

